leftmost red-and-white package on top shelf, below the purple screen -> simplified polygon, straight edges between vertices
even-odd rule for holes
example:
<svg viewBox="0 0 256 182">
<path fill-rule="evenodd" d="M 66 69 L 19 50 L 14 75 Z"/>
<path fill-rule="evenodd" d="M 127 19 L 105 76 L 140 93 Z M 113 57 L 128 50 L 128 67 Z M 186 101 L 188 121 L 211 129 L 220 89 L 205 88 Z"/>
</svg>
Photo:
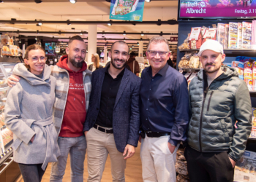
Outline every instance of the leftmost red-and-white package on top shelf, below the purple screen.
<svg viewBox="0 0 256 182">
<path fill-rule="evenodd" d="M 200 27 L 194 27 L 191 28 L 190 36 L 189 36 L 189 44 L 190 49 L 200 49 L 202 45 L 202 35 L 201 35 L 201 28 Z"/>
</svg>

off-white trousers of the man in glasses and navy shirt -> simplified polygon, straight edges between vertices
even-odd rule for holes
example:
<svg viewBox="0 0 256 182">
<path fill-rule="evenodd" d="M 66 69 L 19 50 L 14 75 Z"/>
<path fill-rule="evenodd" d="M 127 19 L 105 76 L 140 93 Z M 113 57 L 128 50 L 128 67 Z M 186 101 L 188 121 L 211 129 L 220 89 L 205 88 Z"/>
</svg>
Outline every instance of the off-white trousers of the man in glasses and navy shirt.
<svg viewBox="0 0 256 182">
<path fill-rule="evenodd" d="M 173 154 L 167 146 L 170 136 L 146 138 L 141 140 L 140 159 L 144 182 L 176 182 L 176 152 Z"/>
</svg>

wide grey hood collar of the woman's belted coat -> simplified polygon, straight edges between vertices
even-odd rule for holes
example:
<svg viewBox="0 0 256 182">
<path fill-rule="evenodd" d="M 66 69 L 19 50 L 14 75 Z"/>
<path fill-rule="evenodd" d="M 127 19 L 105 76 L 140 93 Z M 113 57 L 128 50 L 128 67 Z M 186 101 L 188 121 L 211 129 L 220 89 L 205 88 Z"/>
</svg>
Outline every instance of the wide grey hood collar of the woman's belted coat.
<svg viewBox="0 0 256 182">
<path fill-rule="evenodd" d="M 50 67 L 46 64 L 44 70 L 42 71 L 42 79 L 28 71 L 23 63 L 18 63 L 12 71 L 12 74 L 26 79 L 31 85 L 49 83 L 50 73 Z"/>
</svg>

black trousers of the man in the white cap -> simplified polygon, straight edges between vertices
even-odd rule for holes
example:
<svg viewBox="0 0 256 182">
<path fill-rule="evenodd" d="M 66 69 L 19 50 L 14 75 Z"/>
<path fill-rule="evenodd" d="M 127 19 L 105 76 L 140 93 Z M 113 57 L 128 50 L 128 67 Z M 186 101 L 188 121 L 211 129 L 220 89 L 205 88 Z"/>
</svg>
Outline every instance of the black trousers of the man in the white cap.
<svg viewBox="0 0 256 182">
<path fill-rule="evenodd" d="M 233 182 L 234 169 L 223 152 L 200 152 L 187 146 L 184 151 L 190 182 Z"/>
</svg>

